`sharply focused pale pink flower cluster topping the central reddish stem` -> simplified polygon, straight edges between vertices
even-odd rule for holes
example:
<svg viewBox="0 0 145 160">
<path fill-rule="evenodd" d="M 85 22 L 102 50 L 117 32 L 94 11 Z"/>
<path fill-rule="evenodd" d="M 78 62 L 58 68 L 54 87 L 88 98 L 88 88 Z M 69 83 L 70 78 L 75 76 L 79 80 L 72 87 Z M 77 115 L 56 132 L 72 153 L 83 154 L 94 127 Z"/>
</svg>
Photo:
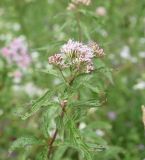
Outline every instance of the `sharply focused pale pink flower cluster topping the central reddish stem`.
<svg viewBox="0 0 145 160">
<path fill-rule="evenodd" d="M 69 40 L 61 47 L 59 54 L 49 57 L 49 63 L 59 68 L 72 68 L 89 73 L 94 70 L 93 58 L 103 55 L 103 49 L 100 49 L 97 43 L 91 42 L 86 45 Z"/>
</svg>

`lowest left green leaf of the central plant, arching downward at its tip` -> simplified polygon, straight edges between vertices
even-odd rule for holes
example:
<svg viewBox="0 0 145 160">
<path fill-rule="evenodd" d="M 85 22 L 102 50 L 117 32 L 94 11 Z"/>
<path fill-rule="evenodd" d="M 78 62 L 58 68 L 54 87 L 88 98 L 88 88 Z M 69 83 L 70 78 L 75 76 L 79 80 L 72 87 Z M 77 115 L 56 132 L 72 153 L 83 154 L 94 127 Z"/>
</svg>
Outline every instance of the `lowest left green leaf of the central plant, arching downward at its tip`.
<svg viewBox="0 0 145 160">
<path fill-rule="evenodd" d="M 38 140 L 36 137 L 20 137 L 10 147 L 10 152 L 14 151 L 16 148 L 26 147 L 28 145 L 35 145 L 35 144 L 43 144 L 41 140 Z"/>
</svg>

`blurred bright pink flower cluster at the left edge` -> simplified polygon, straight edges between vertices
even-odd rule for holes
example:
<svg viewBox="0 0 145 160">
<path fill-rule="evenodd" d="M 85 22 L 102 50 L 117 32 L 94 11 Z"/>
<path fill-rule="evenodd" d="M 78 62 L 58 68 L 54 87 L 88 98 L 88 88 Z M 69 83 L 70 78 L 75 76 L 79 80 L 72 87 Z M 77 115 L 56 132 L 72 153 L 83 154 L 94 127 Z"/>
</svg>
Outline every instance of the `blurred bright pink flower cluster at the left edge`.
<svg viewBox="0 0 145 160">
<path fill-rule="evenodd" d="M 28 47 L 23 38 L 14 39 L 8 46 L 2 48 L 2 56 L 9 64 L 15 64 L 20 68 L 27 68 L 31 63 Z"/>
</svg>

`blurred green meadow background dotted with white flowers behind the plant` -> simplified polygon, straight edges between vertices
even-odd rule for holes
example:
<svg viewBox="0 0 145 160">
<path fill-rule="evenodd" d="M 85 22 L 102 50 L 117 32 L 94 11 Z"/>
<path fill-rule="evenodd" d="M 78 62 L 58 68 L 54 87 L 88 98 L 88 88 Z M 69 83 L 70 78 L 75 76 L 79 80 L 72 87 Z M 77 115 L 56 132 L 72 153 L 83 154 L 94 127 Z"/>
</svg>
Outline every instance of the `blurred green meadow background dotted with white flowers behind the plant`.
<svg viewBox="0 0 145 160">
<path fill-rule="evenodd" d="M 36 150 L 29 157 L 29 149 L 25 155 L 23 149 L 12 154 L 8 149 L 17 137 L 41 135 L 37 115 L 22 121 L 17 114 L 43 90 L 51 88 L 50 84 L 57 83 L 40 72 L 46 68 L 48 56 L 68 39 L 78 39 L 75 14 L 66 9 L 69 2 L 0 0 L 0 48 L 24 36 L 33 62 L 20 83 L 7 74 L 0 88 L 0 160 L 34 159 Z M 99 152 L 98 159 L 144 160 L 141 105 L 145 104 L 145 1 L 92 0 L 82 9 L 80 21 L 83 41 L 94 40 L 104 48 L 114 80 L 106 91 L 107 104 L 87 119 L 96 125 L 96 134 L 112 146 L 107 153 Z"/>
</svg>

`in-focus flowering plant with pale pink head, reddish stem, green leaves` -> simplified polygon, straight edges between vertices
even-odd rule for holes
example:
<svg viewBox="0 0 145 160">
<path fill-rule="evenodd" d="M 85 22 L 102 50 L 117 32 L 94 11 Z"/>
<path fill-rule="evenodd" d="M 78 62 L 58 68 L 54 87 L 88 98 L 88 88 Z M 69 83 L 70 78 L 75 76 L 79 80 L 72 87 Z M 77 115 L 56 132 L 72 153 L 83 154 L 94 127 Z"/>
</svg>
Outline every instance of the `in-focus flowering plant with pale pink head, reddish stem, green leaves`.
<svg viewBox="0 0 145 160">
<path fill-rule="evenodd" d="M 90 82 L 94 75 L 105 70 L 105 66 L 96 65 L 96 61 L 104 55 L 103 49 L 95 42 L 84 44 L 69 40 L 57 54 L 49 57 L 48 61 L 52 67 L 48 73 L 59 78 L 60 83 L 34 101 L 30 111 L 22 116 L 22 119 L 26 119 L 42 109 L 43 137 L 19 138 L 13 143 L 11 150 L 38 145 L 42 147 L 42 153 L 36 156 L 38 159 L 55 159 L 59 148 L 63 148 L 63 152 L 74 148 L 79 157 L 92 159 L 99 146 L 89 140 L 85 141 L 86 137 L 81 135 L 79 123 L 87 116 L 88 109 L 104 103 L 99 98 L 83 96 L 83 90 L 86 88 L 96 95 L 99 94 L 98 90 L 95 90 L 96 85 Z"/>
</svg>

